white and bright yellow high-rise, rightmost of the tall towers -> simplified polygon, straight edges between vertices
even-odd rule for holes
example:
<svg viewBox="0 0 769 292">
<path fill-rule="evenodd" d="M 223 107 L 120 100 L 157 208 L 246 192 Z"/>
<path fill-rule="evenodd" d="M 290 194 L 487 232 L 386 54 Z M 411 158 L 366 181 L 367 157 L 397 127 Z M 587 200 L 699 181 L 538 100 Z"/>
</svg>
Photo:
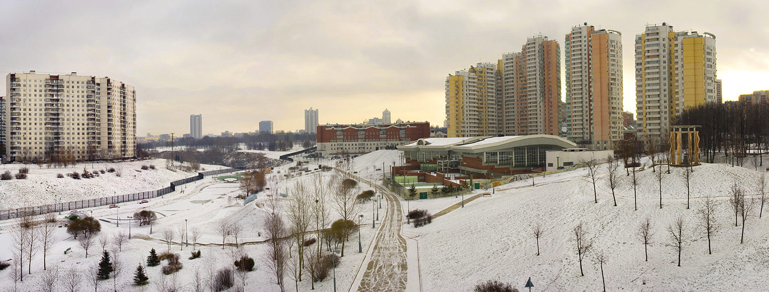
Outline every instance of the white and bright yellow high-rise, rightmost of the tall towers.
<svg viewBox="0 0 769 292">
<path fill-rule="evenodd" d="M 717 102 L 715 35 L 647 25 L 635 38 L 639 138 L 667 139 L 684 108 Z"/>
</svg>

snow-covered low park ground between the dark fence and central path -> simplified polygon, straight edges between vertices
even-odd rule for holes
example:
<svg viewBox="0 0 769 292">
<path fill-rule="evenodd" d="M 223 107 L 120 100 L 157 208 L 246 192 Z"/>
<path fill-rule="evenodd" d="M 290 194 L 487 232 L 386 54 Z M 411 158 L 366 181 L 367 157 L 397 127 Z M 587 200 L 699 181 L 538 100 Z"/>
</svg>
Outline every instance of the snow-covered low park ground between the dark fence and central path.
<svg viewBox="0 0 769 292">
<path fill-rule="evenodd" d="M 157 164 L 156 164 L 157 166 Z M 303 174 L 295 176 L 294 178 L 285 179 L 282 174 L 288 172 L 288 168 L 295 166 L 295 163 L 281 165 L 275 169 L 273 176 L 270 177 L 268 187 L 271 190 L 277 190 L 278 193 L 290 194 L 287 191 L 296 181 L 311 181 L 315 178 L 315 175 L 321 175 L 323 178 L 331 178 L 335 174 L 334 171 L 313 171 L 311 174 Z M 311 169 L 314 169 L 311 165 Z M 207 167 L 208 168 L 208 167 Z M 281 174 L 277 174 L 277 171 L 281 171 Z M 72 180 L 72 178 L 66 178 Z M 63 180 L 63 178 L 62 178 Z M 365 186 L 361 186 L 362 190 L 367 189 Z M 236 195 L 241 194 L 238 190 L 237 183 L 225 183 L 223 181 L 217 181 L 215 178 L 205 178 L 205 180 L 196 181 L 195 183 L 185 184 L 184 187 L 179 187 L 177 191 L 171 194 L 166 194 L 163 197 L 157 197 L 151 199 L 148 204 L 138 204 L 138 202 L 121 204 L 120 209 L 108 209 L 108 207 L 94 207 L 85 211 L 92 212 L 102 224 L 102 231 L 98 236 L 105 236 L 112 238 L 114 234 L 118 232 L 128 233 L 128 224 L 126 218 L 131 216 L 136 211 L 148 209 L 156 211 L 158 213 L 158 220 L 152 226 L 152 234 L 150 234 L 150 227 L 143 226 L 138 227 L 138 224 L 131 225 L 131 235 L 133 239 L 128 241 L 122 247 L 122 252 L 118 252 L 119 257 L 123 263 L 125 263 L 122 274 L 118 276 L 117 289 L 125 291 L 141 290 L 140 287 L 133 286 L 133 273 L 138 264 L 145 263 L 148 252 L 151 248 L 155 248 L 156 251 L 166 251 L 167 245 L 160 241 L 162 231 L 170 229 L 177 231 L 178 228 L 188 226 L 190 231 L 189 238 L 191 239 L 191 231 L 197 229 L 203 234 L 198 242 L 203 244 L 217 244 L 221 243 L 221 237 L 216 235 L 214 229 L 215 226 L 222 220 L 228 220 L 231 222 L 239 222 L 245 227 L 243 235 L 238 238 L 240 242 L 249 241 L 264 241 L 265 227 L 264 218 L 268 208 L 265 207 L 265 195 L 261 194 L 257 200 L 242 205 L 242 201 L 235 198 Z M 282 199 L 281 206 L 285 207 L 290 197 Z M 335 211 L 334 204 L 331 201 L 327 202 L 328 207 L 331 208 L 329 212 L 331 221 L 338 218 L 338 214 Z M 381 211 L 387 208 L 387 204 L 382 204 Z M 338 290 L 348 290 L 353 284 L 355 276 L 359 274 L 359 270 L 365 270 L 365 266 L 362 266 L 363 260 L 368 254 L 371 248 L 371 241 L 373 235 L 377 229 L 371 228 L 371 219 L 375 214 L 371 213 L 371 203 L 361 206 L 360 214 L 364 216 L 360 219 L 361 223 L 361 241 L 363 244 L 363 253 L 358 253 L 358 241 L 357 234 L 350 237 L 350 241 L 347 242 L 345 251 L 345 257 L 342 258 L 341 264 L 336 269 L 337 287 Z M 62 214 L 63 216 L 63 214 Z M 63 220 L 60 216 L 59 219 Z M 121 218 L 120 226 L 117 227 L 115 219 Z M 11 254 L 11 236 L 10 232 L 14 224 L 18 221 L 0 221 L 0 259 L 5 260 L 12 257 Z M 63 222 L 63 221 L 62 221 Z M 379 227 L 380 224 L 377 224 Z M 180 241 L 178 235 L 174 235 L 174 240 Z M 233 242 L 234 239 L 229 237 L 228 243 Z M 69 234 L 66 234 L 65 227 L 57 229 L 57 238 L 54 247 L 48 254 L 48 268 L 52 266 L 62 267 L 64 270 L 76 269 L 78 271 L 85 271 L 95 266 L 98 263 L 101 247 L 92 247 L 88 251 L 88 258 L 85 258 L 85 251 L 78 247 L 78 241 L 75 241 Z M 72 252 L 64 254 L 67 248 L 72 248 Z M 221 267 L 234 267 L 232 260 L 233 251 L 235 247 L 225 247 L 211 245 L 198 247 L 202 250 L 202 257 L 200 259 L 188 260 L 189 251 L 191 251 L 192 244 L 189 247 L 183 247 L 184 251 L 181 251 L 178 244 L 171 246 L 171 251 L 181 255 L 181 263 L 184 264 L 182 270 L 176 273 L 176 277 L 165 276 L 161 273 L 161 267 L 147 267 L 148 277 L 150 278 L 150 284 L 145 287 L 146 290 L 155 291 L 158 288 L 156 283 L 164 280 L 167 283 L 172 281 L 176 282 L 176 286 L 180 291 L 192 291 L 194 290 L 193 282 L 195 271 L 199 270 L 201 276 L 204 279 L 208 279 L 209 268 L 218 270 Z M 269 272 L 266 262 L 263 259 L 266 245 L 265 244 L 245 244 L 241 247 L 248 255 L 253 257 L 256 262 L 255 270 L 248 273 L 248 284 L 245 290 L 249 291 L 277 291 L 278 286 L 274 284 L 274 277 Z M 107 249 L 112 251 L 112 247 L 108 246 Z M 165 261 L 163 263 L 165 265 Z M 11 269 L 0 271 L 0 290 L 8 290 L 13 287 L 13 282 L 8 279 L 8 274 Z M 26 270 L 26 267 L 25 267 Z M 333 277 L 332 271 L 329 272 L 329 277 L 324 281 L 315 283 L 315 289 L 320 291 L 331 291 L 333 289 Z M 32 274 L 25 276 L 25 281 L 19 283 L 19 290 L 39 290 L 41 288 L 42 279 L 42 254 L 38 253 L 33 259 Z M 237 278 L 236 278 L 237 279 Z M 286 289 L 292 290 L 294 287 L 293 280 L 285 279 L 287 282 Z M 99 290 L 112 290 L 112 279 L 102 281 Z M 80 290 L 93 289 L 88 287 L 86 281 L 82 281 L 82 287 Z M 299 283 L 300 290 L 309 290 L 310 281 L 304 280 Z"/>
</svg>

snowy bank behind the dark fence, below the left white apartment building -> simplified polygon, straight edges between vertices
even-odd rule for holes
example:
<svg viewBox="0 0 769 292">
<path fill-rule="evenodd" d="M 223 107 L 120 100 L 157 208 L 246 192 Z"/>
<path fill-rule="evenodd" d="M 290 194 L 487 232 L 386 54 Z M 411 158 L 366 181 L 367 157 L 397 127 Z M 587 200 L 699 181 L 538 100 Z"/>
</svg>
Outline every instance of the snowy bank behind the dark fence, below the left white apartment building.
<svg viewBox="0 0 769 292">
<path fill-rule="evenodd" d="M 10 171 L 16 174 L 18 168 L 28 167 L 29 174 L 26 179 L 14 178 L 9 181 L 0 181 L 0 210 L 54 204 L 58 203 L 59 198 L 62 203 L 65 203 L 140 191 L 155 191 L 168 187 L 171 181 L 197 174 L 196 171 L 168 170 L 165 161 L 165 159 L 152 159 L 115 163 L 78 163 L 68 168 L 46 168 L 45 165 L 41 168 L 35 164 L 4 164 L 0 172 Z M 141 169 L 142 165 L 150 164 L 155 165 L 154 170 Z M 115 168 L 115 172 L 107 172 L 109 168 Z M 203 168 L 212 171 L 224 167 L 201 164 L 201 170 Z M 82 174 L 83 170 L 91 173 L 99 171 L 99 176 L 79 180 L 66 176 L 74 171 Z M 102 174 L 100 170 L 104 170 L 105 173 Z M 116 175 L 118 172 L 119 177 Z M 64 174 L 65 177 L 57 178 L 58 174 Z"/>
</svg>

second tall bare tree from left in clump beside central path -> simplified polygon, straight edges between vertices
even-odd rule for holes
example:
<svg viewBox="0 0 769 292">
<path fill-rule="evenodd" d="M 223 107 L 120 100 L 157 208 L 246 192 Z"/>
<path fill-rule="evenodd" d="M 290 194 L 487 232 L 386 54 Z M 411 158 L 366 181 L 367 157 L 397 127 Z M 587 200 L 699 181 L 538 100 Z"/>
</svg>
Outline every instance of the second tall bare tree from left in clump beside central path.
<svg viewBox="0 0 769 292">
<path fill-rule="evenodd" d="M 307 231 L 311 224 L 311 195 L 305 184 L 296 181 L 294 186 L 289 189 L 293 200 L 288 204 L 288 221 L 291 222 L 291 233 L 294 234 L 294 241 L 297 247 L 298 260 L 298 280 L 301 281 L 301 271 L 304 269 L 304 259 L 301 254 L 305 253 L 305 240 L 307 240 Z"/>
</svg>

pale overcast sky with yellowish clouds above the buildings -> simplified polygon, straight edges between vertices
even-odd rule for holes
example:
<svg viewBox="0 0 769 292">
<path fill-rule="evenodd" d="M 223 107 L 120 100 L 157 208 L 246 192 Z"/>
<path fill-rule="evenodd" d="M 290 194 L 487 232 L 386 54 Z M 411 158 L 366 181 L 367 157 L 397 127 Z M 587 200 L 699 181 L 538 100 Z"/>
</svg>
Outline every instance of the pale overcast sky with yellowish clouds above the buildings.
<svg viewBox="0 0 769 292">
<path fill-rule="evenodd" d="M 588 22 L 622 33 L 634 111 L 634 35 L 667 22 L 716 35 L 724 99 L 769 89 L 764 1 L 0 1 L 0 74 L 109 76 L 137 91 L 137 135 L 304 128 L 381 116 L 443 124 L 444 81 Z M 564 87 L 565 91 L 565 87 Z M 5 82 L 0 82 L 5 92 Z M 5 95 L 5 94 L 3 94 Z M 565 97 L 565 95 L 564 95 Z M 181 135 L 179 134 L 179 135 Z"/>
</svg>

